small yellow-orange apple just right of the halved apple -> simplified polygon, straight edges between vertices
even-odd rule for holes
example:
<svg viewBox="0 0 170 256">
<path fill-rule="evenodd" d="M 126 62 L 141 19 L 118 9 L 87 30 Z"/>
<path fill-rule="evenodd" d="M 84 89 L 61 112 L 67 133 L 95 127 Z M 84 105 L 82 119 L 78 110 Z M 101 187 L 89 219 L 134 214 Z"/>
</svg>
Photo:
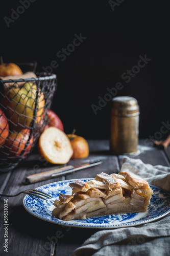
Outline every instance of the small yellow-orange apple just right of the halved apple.
<svg viewBox="0 0 170 256">
<path fill-rule="evenodd" d="M 67 134 L 67 136 L 74 152 L 71 159 L 88 157 L 89 146 L 87 140 L 81 136 L 77 136 L 76 134 Z"/>
</svg>

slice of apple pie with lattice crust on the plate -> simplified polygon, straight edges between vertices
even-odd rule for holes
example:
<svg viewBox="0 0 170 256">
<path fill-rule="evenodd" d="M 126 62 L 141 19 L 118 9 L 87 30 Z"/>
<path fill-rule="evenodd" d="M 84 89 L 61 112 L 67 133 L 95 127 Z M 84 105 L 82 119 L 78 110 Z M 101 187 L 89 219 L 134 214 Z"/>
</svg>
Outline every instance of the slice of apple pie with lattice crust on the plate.
<svg viewBox="0 0 170 256">
<path fill-rule="evenodd" d="M 59 195 L 52 215 L 64 221 L 147 211 L 153 194 L 147 181 L 128 172 L 101 173 L 69 183 L 72 195 Z"/>
</svg>

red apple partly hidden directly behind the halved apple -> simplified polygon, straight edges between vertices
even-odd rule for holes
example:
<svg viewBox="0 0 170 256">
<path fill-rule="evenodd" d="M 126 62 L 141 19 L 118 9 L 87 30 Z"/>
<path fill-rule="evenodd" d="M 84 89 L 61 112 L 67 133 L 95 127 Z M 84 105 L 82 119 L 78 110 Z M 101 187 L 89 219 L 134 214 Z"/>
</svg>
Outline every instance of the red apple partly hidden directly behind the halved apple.
<svg viewBox="0 0 170 256">
<path fill-rule="evenodd" d="M 47 124 L 45 125 L 45 129 L 48 127 L 57 127 L 61 131 L 64 131 L 63 123 L 61 119 L 58 117 L 58 115 L 52 111 L 48 110 L 47 111 Z"/>
</svg>

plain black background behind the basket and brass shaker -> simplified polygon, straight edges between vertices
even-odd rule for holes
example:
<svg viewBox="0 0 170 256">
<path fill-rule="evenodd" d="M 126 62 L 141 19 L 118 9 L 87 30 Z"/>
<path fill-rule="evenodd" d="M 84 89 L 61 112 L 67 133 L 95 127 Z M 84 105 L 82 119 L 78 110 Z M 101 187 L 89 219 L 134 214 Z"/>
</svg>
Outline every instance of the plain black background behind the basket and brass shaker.
<svg viewBox="0 0 170 256">
<path fill-rule="evenodd" d="M 140 106 L 139 138 L 158 139 L 162 121 L 169 119 L 167 3 L 117 0 L 119 5 L 112 10 L 104 0 L 36 0 L 8 28 L 4 17 L 11 18 L 12 9 L 21 10 L 17 9 L 21 2 L 6 1 L 1 8 L 0 56 L 4 62 L 36 60 L 39 72 L 53 60 L 58 62 L 53 69 L 58 88 L 52 110 L 61 118 L 65 133 L 75 128 L 86 139 L 109 138 L 111 101 L 96 115 L 91 104 L 98 105 L 107 88 L 122 82 L 124 88 L 116 96 L 135 97 Z M 86 39 L 62 61 L 57 53 L 80 33 Z M 145 54 L 152 60 L 126 83 L 122 74 Z"/>
</svg>

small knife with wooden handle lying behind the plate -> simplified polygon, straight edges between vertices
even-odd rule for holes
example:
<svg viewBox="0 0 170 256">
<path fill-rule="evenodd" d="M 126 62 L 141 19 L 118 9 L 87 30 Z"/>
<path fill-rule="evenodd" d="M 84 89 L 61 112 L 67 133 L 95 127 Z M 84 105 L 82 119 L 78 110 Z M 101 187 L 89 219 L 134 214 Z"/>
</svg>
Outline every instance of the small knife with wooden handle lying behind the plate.
<svg viewBox="0 0 170 256">
<path fill-rule="evenodd" d="M 66 174 L 70 174 L 70 173 L 74 173 L 77 170 L 82 170 L 85 168 L 89 168 L 98 164 L 101 164 L 102 161 L 95 161 L 95 162 L 89 162 L 89 163 L 85 163 L 82 164 L 80 166 L 72 166 L 72 165 L 67 165 L 61 168 L 55 168 L 53 170 L 47 170 L 46 172 L 42 172 L 42 173 L 38 173 L 38 174 L 33 174 L 30 175 L 26 178 L 25 184 L 32 184 L 35 182 L 39 182 L 42 180 L 47 180 L 47 179 L 51 179 L 51 178 L 55 178 L 58 176 L 62 176 L 62 175 L 66 175 Z"/>
</svg>

